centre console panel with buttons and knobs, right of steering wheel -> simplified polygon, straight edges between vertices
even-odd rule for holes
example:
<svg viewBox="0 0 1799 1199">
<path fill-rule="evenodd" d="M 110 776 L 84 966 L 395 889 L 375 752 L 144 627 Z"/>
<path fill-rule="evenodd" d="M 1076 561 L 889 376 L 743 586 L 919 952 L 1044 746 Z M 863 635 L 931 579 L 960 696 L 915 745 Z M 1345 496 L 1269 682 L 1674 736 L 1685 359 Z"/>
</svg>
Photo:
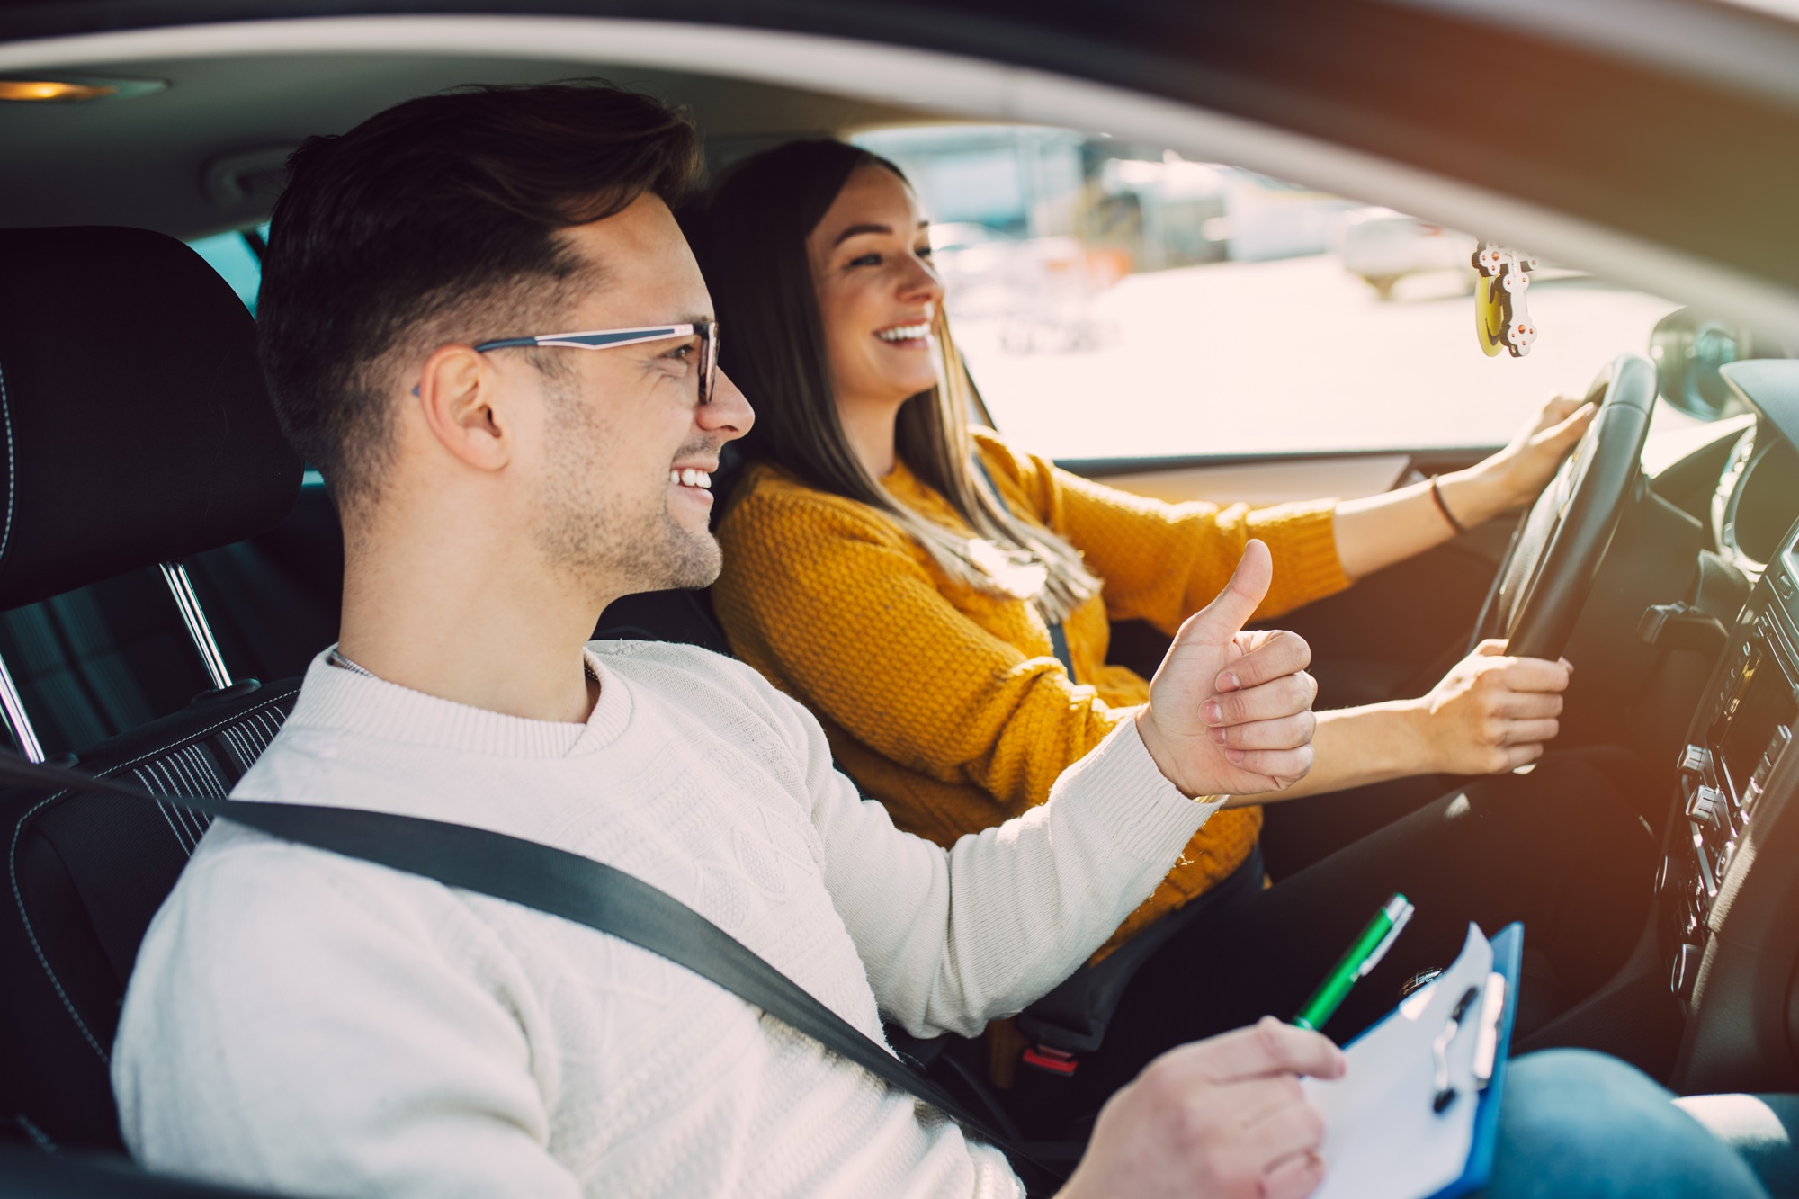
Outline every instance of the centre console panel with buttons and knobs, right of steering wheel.
<svg viewBox="0 0 1799 1199">
<path fill-rule="evenodd" d="M 1732 864 L 1756 843 L 1750 830 L 1785 807 L 1799 756 L 1799 545 L 1783 553 L 1750 594 L 1702 693 L 1678 762 L 1677 812 L 1669 821 L 1660 877 L 1669 987 L 1686 1008 L 1695 1001 L 1713 951 Z M 1776 803 L 1776 799 L 1779 803 Z M 1747 866 L 1745 866 L 1747 868 Z"/>
</svg>

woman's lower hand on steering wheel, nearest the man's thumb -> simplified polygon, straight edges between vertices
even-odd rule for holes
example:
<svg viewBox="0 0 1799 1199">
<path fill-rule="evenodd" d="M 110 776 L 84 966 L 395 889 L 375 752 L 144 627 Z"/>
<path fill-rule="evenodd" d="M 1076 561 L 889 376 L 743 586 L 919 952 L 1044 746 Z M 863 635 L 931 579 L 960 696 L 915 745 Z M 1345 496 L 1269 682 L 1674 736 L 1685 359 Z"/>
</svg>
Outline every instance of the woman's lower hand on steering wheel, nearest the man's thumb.
<svg viewBox="0 0 1799 1199">
<path fill-rule="evenodd" d="M 1572 672 L 1567 659 L 1508 657 L 1504 641 L 1482 641 L 1412 700 L 1419 772 L 1499 774 L 1536 762 L 1560 733 Z"/>
</svg>

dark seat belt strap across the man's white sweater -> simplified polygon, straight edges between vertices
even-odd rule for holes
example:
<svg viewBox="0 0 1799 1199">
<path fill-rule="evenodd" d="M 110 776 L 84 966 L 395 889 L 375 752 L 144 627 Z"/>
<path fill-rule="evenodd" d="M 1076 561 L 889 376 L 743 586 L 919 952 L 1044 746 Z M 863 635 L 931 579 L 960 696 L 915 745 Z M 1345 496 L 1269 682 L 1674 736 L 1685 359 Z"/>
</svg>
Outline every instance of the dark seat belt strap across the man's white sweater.
<svg viewBox="0 0 1799 1199">
<path fill-rule="evenodd" d="M 477 891 L 617 936 L 667 958 L 774 1015 L 882 1082 L 919 1098 L 989 1141 L 1011 1161 L 1031 1195 L 1051 1195 L 1065 1181 L 1024 1149 L 995 1134 L 935 1082 L 887 1046 L 763 961 L 743 942 L 648 882 L 568 850 L 489 828 L 396 812 L 300 803 L 234 801 L 218 796 L 153 796 L 137 787 L 68 767 L 0 753 L 0 785 L 76 790 L 173 803 L 299 844 L 362 859 L 444 886 Z"/>
</svg>

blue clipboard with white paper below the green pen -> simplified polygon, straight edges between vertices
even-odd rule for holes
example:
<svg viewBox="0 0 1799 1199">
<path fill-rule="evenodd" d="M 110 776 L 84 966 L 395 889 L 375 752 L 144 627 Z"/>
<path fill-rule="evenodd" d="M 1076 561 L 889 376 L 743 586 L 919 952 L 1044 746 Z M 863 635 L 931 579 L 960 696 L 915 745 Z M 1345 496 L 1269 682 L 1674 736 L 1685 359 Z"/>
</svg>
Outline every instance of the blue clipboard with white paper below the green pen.
<svg viewBox="0 0 1799 1199">
<path fill-rule="evenodd" d="M 1524 925 L 1488 940 L 1470 924 L 1437 983 L 1344 1044 L 1342 1080 L 1301 1080 L 1326 1120 L 1315 1199 L 1457 1199 L 1488 1185 L 1522 951 Z M 1482 1051 L 1491 1053 L 1484 1086 Z"/>
</svg>

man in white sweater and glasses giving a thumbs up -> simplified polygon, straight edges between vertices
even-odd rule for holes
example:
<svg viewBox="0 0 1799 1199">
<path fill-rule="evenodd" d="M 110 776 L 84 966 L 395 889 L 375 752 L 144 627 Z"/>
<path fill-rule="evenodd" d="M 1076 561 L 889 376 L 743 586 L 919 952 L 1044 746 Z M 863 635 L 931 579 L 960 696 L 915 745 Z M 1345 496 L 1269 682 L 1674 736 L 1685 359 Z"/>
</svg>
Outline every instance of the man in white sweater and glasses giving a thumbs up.
<svg viewBox="0 0 1799 1199">
<path fill-rule="evenodd" d="M 705 369 L 669 214 L 694 160 L 684 121 L 601 88 L 412 101 L 295 155 L 264 364 L 344 518 L 342 641 L 236 794 L 586 853 L 871 1037 L 970 1033 L 1074 969 L 1222 794 L 1306 772 L 1306 646 L 1240 632 L 1270 574 L 1252 545 L 1142 715 L 950 850 L 860 803 L 748 668 L 583 650 L 610 600 L 718 571 L 709 472 L 752 414 Z M 531 342 L 617 329 L 639 333 Z M 1258 749 L 1198 718 L 1227 666 Z M 1274 1021 L 1177 1048 L 1065 1194 L 1308 1194 L 1297 1077 L 1342 1068 Z M 139 1159 L 284 1192 L 1020 1192 L 991 1147 L 666 960 L 230 823 L 146 936 L 113 1086 Z"/>
</svg>

